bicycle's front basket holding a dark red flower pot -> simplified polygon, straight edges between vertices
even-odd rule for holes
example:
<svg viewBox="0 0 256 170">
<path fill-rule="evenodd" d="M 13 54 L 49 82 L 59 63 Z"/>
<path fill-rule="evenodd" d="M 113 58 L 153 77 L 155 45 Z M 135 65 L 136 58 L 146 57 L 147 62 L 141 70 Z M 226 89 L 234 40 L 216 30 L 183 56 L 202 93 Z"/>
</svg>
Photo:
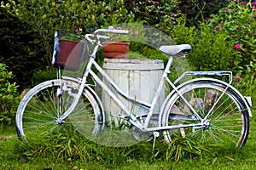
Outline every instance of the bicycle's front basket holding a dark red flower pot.
<svg viewBox="0 0 256 170">
<path fill-rule="evenodd" d="M 52 64 L 69 71 L 79 70 L 84 57 L 85 42 L 82 29 L 55 32 L 55 48 Z"/>
</svg>

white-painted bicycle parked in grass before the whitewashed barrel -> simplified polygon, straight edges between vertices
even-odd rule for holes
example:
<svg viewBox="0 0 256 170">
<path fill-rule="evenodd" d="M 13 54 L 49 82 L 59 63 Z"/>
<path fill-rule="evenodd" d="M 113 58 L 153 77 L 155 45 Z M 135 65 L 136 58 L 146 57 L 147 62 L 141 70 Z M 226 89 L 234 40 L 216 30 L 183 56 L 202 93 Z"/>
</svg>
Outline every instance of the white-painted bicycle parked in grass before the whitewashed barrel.
<svg viewBox="0 0 256 170">
<path fill-rule="evenodd" d="M 109 115 L 106 115 L 102 96 L 97 94 L 95 86 L 89 83 L 95 82 L 97 89 L 100 87 L 100 91 L 108 94 L 121 109 L 118 119 L 128 126 L 120 132 L 131 132 L 131 138 L 134 140 L 137 139 L 136 133 L 146 136 L 157 136 L 160 133 L 167 142 L 172 140 L 172 136 L 179 135 L 206 144 L 241 147 L 246 143 L 251 105 L 249 98 L 242 96 L 231 86 L 230 71 L 188 71 L 172 82 L 168 78 L 172 59 L 187 54 L 191 47 L 189 44 L 160 46 L 159 50 L 167 54 L 169 59 L 154 93 L 154 99 L 148 103 L 125 94 L 97 64 L 96 52 L 102 46 L 102 40 L 108 39 L 101 33 L 106 32 L 128 33 L 125 30 L 99 29 L 94 34 L 85 35 L 84 51 L 90 51 L 88 48 L 91 46 L 93 50 L 83 58 L 86 60 L 85 69 L 83 75 L 76 75 L 79 78 L 61 76 L 61 69 L 67 66 L 67 63 L 61 65 L 58 61 L 58 54 L 61 53 L 58 51 L 61 34 L 59 31 L 55 32 L 54 65 L 57 67 L 58 76 L 55 80 L 38 84 L 21 100 L 16 115 L 16 129 L 21 139 L 34 136 L 43 138 L 49 133 L 59 133 L 61 129 L 76 127 L 88 139 L 101 143 L 102 139 L 107 138 L 102 136 L 102 132 L 109 129 L 111 120 L 109 121 Z M 75 67 L 80 68 L 80 62 L 78 63 Z M 187 76 L 196 78 L 179 83 Z M 228 77 L 228 81 L 214 77 Z M 165 86 L 169 86 L 172 91 L 166 94 L 160 111 L 156 113 L 155 107 Z M 117 94 L 134 105 L 145 108 L 147 113 L 136 116 Z M 111 113 L 108 114 L 111 117 Z"/>
</svg>

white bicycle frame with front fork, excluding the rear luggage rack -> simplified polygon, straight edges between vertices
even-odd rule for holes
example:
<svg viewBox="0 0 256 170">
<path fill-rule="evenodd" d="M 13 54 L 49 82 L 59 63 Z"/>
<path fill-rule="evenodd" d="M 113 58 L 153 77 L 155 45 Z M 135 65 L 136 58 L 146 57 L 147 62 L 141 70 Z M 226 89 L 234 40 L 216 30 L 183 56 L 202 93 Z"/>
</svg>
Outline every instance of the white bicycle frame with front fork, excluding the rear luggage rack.
<svg viewBox="0 0 256 170">
<path fill-rule="evenodd" d="M 65 120 L 67 118 L 67 116 L 69 116 L 69 114 L 73 111 L 75 106 L 77 105 L 77 103 L 79 101 L 79 97 L 83 93 L 84 87 L 87 86 L 86 85 L 86 79 L 90 75 L 97 82 L 97 84 L 99 84 L 101 86 L 101 88 L 105 92 L 107 92 L 107 94 L 109 94 L 109 96 L 116 102 L 116 104 L 119 105 L 121 110 L 125 112 L 125 116 L 120 116 L 120 118 L 124 118 L 128 122 L 131 122 L 132 125 L 134 125 L 135 127 L 138 127 L 143 132 L 161 131 L 161 130 L 167 130 L 167 129 L 173 129 L 173 128 L 180 128 L 180 127 L 201 127 L 201 126 L 205 125 L 205 123 L 203 122 L 203 119 L 201 118 L 201 116 L 199 116 L 199 114 L 193 109 L 193 107 L 183 97 L 183 95 L 178 92 L 176 86 L 167 77 L 167 75 L 170 73 L 169 70 L 170 70 L 170 67 L 172 65 L 172 57 L 170 57 L 170 59 L 168 59 L 168 63 L 166 65 L 164 73 L 163 73 L 163 75 L 162 75 L 162 77 L 160 79 L 160 83 L 159 83 L 158 88 L 157 88 L 157 90 L 155 92 L 154 99 L 153 99 L 152 103 L 148 104 L 147 102 L 133 99 L 128 94 L 125 94 L 118 87 L 118 85 L 115 82 L 113 82 L 113 80 L 108 76 L 108 74 L 105 71 L 102 70 L 101 66 L 96 63 L 96 61 L 95 61 L 95 59 L 96 59 L 96 51 L 99 48 L 99 46 L 100 46 L 100 42 L 98 42 L 96 44 L 96 47 L 94 48 L 92 54 L 90 55 L 90 59 L 89 59 L 88 65 L 86 66 L 86 69 L 84 71 L 84 76 L 82 78 L 81 85 L 80 85 L 77 97 L 76 97 L 75 101 L 73 102 L 73 105 L 64 113 L 63 116 L 61 116 L 61 118 L 60 118 L 61 121 Z M 145 119 L 144 122 L 138 121 L 137 117 L 131 114 L 131 111 L 128 110 L 127 106 L 115 94 L 113 94 L 113 92 L 108 88 L 108 86 L 104 82 L 102 82 L 102 80 L 94 73 L 94 71 L 91 70 L 92 66 L 95 66 L 96 70 L 99 71 L 99 73 L 102 75 L 102 77 L 104 77 L 104 79 L 111 84 L 111 86 L 115 89 L 115 91 L 117 91 L 119 94 L 121 94 L 123 97 L 125 97 L 125 99 L 129 99 L 132 102 L 135 102 L 138 105 L 142 105 L 143 107 L 147 107 L 149 109 L 148 114 L 147 114 L 146 119 Z M 196 120 L 198 120 L 199 123 L 197 123 L 197 124 L 190 124 L 190 125 L 167 126 L 167 127 L 148 127 L 149 122 L 150 122 L 150 120 L 151 120 L 151 118 L 153 116 L 154 108 L 155 108 L 155 106 L 156 106 L 156 104 L 158 102 L 158 99 L 160 98 L 160 92 L 161 92 L 162 88 L 164 88 L 164 83 L 166 81 L 170 84 L 170 86 L 173 88 L 173 90 L 175 90 L 177 92 L 177 94 L 180 95 L 180 97 L 183 99 L 185 104 L 189 107 L 190 111 L 192 111 L 192 113 L 195 115 Z"/>
</svg>

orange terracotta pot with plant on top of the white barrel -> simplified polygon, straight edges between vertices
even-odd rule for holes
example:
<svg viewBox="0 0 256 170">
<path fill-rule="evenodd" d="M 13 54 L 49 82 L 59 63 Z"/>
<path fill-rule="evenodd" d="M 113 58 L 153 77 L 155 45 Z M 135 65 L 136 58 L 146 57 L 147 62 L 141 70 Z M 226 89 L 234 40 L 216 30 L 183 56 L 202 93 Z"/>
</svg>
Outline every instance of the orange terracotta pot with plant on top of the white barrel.
<svg viewBox="0 0 256 170">
<path fill-rule="evenodd" d="M 121 30 L 121 27 L 117 27 L 117 30 Z M 112 34 L 108 35 L 110 42 L 102 42 L 102 50 L 104 57 L 108 59 L 125 59 L 129 51 L 129 37 L 131 34 L 137 35 L 137 31 L 130 31 L 129 35 Z"/>
</svg>

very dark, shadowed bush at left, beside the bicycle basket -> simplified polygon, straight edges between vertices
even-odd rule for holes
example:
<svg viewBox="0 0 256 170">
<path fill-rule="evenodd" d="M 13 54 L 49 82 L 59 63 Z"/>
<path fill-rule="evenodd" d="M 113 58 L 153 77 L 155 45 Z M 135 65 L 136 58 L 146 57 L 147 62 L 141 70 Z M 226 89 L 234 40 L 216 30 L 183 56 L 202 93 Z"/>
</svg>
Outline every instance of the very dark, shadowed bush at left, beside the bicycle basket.
<svg viewBox="0 0 256 170">
<path fill-rule="evenodd" d="M 15 75 L 11 82 L 19 82 L 20 88 L 31 84 L 35 70 L 47 65 L 37 31 L 0 7 L 0 62 Z"/>
</svg>

